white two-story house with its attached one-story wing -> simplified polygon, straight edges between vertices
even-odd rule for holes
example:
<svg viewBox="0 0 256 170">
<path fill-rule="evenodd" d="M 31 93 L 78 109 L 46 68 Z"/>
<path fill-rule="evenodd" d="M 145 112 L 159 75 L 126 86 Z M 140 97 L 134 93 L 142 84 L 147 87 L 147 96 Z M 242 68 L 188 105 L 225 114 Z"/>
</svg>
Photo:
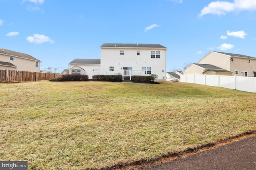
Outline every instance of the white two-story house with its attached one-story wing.
<svg viewBox="0 0 256 170">
<path fill-rule="evenodd" d="M 160 44 L 104 43 L 100 46 L 100 59 L 74 59 L 69 63 L 70 74 L 158 75 L 166 78 L 166 51 Z"/>
</svg>

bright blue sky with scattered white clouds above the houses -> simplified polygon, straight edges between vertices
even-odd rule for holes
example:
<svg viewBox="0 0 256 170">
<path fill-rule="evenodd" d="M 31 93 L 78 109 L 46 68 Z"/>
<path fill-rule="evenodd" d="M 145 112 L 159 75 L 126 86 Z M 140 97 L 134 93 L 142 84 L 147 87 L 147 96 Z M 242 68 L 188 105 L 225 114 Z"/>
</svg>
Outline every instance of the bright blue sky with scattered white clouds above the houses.
<svg viewBox="0 0 256 170">
<path fill-rule="evenodd" d="M 167 71 L 210 51 L 256 57 L 256 0 L 0 0 L 0 47 L 48 67 L 100 58 L 103 43 L 159 43 Z"/>
</svg>

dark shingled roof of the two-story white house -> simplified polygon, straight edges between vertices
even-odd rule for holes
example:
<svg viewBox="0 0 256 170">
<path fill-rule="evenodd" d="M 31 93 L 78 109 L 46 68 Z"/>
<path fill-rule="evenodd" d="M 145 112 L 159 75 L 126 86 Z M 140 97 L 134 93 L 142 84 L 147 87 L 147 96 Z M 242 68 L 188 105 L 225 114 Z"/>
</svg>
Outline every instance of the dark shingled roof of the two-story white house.
<svg viewBox="0 0 256 170">
<path fill-rule="evenodd" d="M 166 48 L 160 44 L 148 43 L 104 43 L 100 47 Z"/>
</svg>

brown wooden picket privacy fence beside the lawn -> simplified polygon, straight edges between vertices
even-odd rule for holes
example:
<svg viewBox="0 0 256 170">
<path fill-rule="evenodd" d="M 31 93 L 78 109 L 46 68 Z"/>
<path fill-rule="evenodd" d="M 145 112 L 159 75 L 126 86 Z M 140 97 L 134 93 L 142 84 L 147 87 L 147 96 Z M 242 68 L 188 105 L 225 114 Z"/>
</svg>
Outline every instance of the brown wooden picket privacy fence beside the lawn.
<svg viewBox="0 0 256 170">
<path fill-rule="evenodd" d="M 61 77 L 57 73 L 39 73 L 30 71 L 0 70 L 0 82 L 22 82 L 50 80 Z"/>
</svg>

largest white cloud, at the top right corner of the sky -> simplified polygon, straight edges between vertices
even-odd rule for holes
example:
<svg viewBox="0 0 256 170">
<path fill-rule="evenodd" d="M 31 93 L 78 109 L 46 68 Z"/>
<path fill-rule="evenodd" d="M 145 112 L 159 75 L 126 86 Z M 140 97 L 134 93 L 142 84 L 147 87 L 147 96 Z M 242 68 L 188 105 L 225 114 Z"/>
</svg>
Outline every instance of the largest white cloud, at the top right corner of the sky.
<svg viewBox="0 0 256 170">
<path fill-rule="evenodd" d="M 256 10 L 256 0 L 234 0 L 234 2 L 216 1 L 211 2 L 201 10 L 199 16 L 206 14 L 225 15 L 226 12 Z"/>
</svg>

